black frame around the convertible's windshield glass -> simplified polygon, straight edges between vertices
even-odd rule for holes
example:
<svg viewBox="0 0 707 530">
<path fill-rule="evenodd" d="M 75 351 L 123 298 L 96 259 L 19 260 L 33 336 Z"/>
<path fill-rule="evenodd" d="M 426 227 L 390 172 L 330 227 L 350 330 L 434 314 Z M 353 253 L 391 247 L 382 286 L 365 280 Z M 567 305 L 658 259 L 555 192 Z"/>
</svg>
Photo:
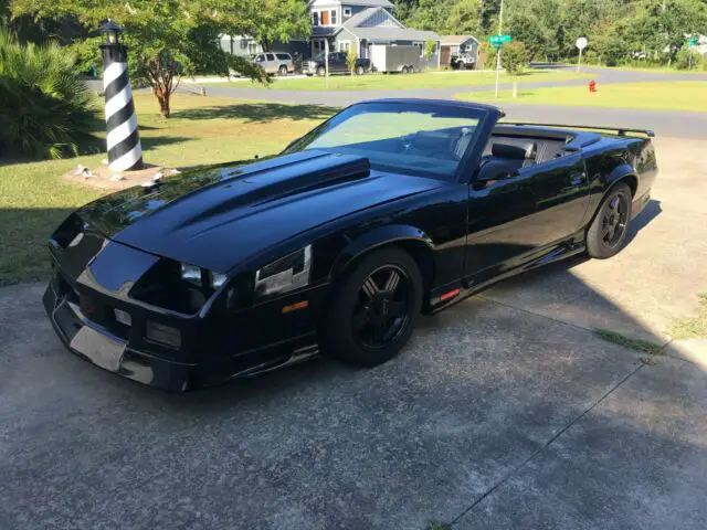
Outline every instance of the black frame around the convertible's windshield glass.
<svg viewBox="0 0 707 530">
<path fill-rule="evenodd" d="M 492 131 L 496 126 L 496 121 L 504 116 L 504 113 L 488 105 L 475 105 L 464 104 L 457 102 L 446 100 L 430 100 L 430 99 L 377 99 L 356 103 L 349 107 L 346 107 L 341 112 L 335 114 L 329 119 L 312 129 L 309 132 L 300 138 L 297 138 L 291 142 L 281 155 L 289 155 L 293 152 L 299 152 L 306 150 L 307 146 L 315 141 L 319 136 L 333 126 L 337 126 L 352 116 L 365 114 L 366 107 L 371 105 L 391 105 L 391 106 L 404 106 L 409 105 L 412 110 L 420 110 L 422 113 L 430 112 L 456 112 L 460 117 L 473 118 L 477 120 L 476 129 L 473 140 L 466 148 L 466 151 L 460 160 L 454 173 L 444 176 L 441 173 L 429 173 L 430 177 L 437 180 L 444 180 L 449 182 L 469 182 L 473 179 L 474 170 L 481 161 L 484 148 L 490 138 Z M 389 167 L 387 170 L 395 170 L 401 172 L 411 172 L 408 169 Z"/>
</svg>

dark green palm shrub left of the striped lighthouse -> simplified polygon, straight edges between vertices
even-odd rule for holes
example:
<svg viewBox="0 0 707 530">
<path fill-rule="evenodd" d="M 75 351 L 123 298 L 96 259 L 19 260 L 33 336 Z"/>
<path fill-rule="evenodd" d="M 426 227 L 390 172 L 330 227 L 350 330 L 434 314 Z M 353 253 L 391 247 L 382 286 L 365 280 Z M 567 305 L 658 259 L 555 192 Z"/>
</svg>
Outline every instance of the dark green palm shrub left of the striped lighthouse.
<svg viewBox="0 0 707 530">
<path fill-rule="evenodd" d="M 93 96 L 56 43 L 20 44 L 0 28 L 0 155 L 78 153 L 96 127 Z"/>
</svg>

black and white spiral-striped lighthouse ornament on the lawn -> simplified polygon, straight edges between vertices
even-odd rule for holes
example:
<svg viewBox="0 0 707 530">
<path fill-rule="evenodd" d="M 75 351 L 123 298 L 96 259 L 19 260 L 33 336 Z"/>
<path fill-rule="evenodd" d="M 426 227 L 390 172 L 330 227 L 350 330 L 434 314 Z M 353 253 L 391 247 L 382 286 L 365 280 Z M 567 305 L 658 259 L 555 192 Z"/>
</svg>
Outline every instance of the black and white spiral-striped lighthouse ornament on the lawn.
<svg viewBox="0 0 707 530">
<path fill-rule="evenodd" d="M 106 42 L 101 44 L 106 144 L 108 167 L 113 171 L 131 171 L 143 169 L 143 148 L 128 78 L 128 47 L 119 42 L 120 31 L 120 26 L 110 19 L 101 26 L 101 33 L 106 35 Z"/>
</svg>

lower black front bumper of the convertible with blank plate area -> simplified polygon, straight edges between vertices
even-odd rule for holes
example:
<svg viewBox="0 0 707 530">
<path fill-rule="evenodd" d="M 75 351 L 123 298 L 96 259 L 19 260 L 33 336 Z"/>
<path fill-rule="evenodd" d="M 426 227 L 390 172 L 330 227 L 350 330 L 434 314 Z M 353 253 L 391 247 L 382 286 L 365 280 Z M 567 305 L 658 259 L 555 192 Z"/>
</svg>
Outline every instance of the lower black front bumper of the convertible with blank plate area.
<svg viewBox="0 0 707 530">
<path fill-rule="evenodd" d="M 159 348 L 151 349 L 133 335 L 118 336 L 108 327 L 89 319 L 81 309 L 78 295 L 70 279 L 55 271 L 43 296 L 44 309 L 64 346 L 98 368 L 126 379 L 157 388 L 166 392 L 186 392 L 221 384 L 234 379 L 251 377 L 284 364 L 298 362 L 316 354 L 313 348 L 314 333 L 305 333 L 295 340 L 263 346 L 250 351 L 210 358 L 204 362 L 180 362 L 165 358 Z M 188 352 L 179 351 L 182 358 L 191 359 L 208 348 L 209 337 L 186 330 Z M 138 343 L 141 347 L 133 346 Z M 194 347 L 196 346 L 196 347 Z M 184 353 L 188 353 L 184 356 Z"/>
</svg>

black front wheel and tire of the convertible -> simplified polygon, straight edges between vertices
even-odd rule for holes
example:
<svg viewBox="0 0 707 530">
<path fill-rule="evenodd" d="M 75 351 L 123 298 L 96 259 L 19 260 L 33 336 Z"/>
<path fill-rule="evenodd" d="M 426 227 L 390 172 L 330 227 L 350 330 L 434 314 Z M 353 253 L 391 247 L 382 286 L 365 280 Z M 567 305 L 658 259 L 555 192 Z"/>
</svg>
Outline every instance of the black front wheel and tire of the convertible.
<svg viewBox="0 0 707 530">
<path fill-rule="evenodd" d="M 422 275 L 410 254 L 395 247 L 371 252 L 335 287 L 323 321 L 323 351 L 357 367 L 389 361 L 410 339 L 422 296 Z"/>
</svg>

